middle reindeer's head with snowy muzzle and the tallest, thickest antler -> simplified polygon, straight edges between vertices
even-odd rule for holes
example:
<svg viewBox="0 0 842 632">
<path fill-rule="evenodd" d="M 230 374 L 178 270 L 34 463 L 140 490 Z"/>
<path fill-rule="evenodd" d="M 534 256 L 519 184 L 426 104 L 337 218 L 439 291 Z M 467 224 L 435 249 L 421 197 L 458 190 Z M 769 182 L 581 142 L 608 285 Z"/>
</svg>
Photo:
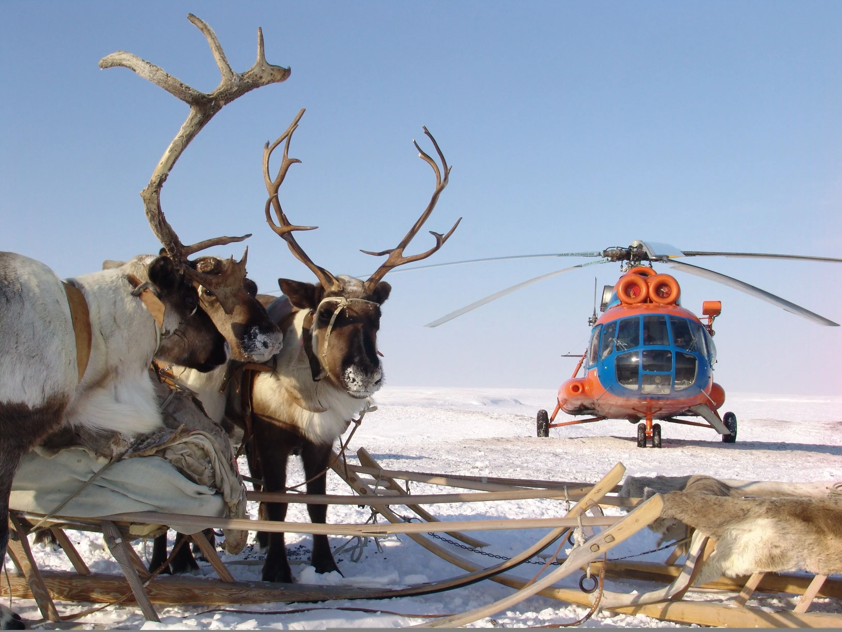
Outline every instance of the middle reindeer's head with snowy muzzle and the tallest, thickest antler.
<svg viewBox="0 0 842 632">
<path fill-rule="evenodd" d="M 290 69 L 273 66 L 266 62 L 263 33 L 258 29 L 257 61 L 242 74 L 233 72 L 227 62 L 225 51 L 222 50 L 210 26 L 195 15 L 188 14 L 187 17 L 205 35 L 221 72 L 221 83 L 212 93 L 205 94 L 195 88 L 190 88 L 179 79 L 164 72 L 163 68 L 125 51 L 117 51 L 104 57 L 99 61 L 99 67 L 129 68 L 190 106 L 187 120 L 184 121 L 179 133 L 173 138 L 173 142 L 170 142 L 163 158 L 152 172 L 152 178 L 146 189 L 141 191 L 147 219 L 152 226 L 152 232 L 163 244 L 175 270 L 182 278 L 186 277 L 193 284 L 194 291 L 198 290 L 205 314 L 231 345 L 232 356 L 242 361 L 264 362 L 280 350 L 282 335 L 255 298 L 256 288 L 254 288 L 255 292 L 249 292 L 249 289 L 253 288 L 253 283 L 249 285 L 251 281 L 246 279 L 246 255 L 244 254 L 242 260 L 239 261 L 234 261 L 233 258 L 220 260 L 215 257 L 189 260 L 190 255 L 200 250 L 210 248 L 210 246 L 240 242 L 251 235 L 218 237 L 185 246 L 164 217 L 161 209 L 161 189 L 181 153 L 216 115 L 216 112 L 254 88 L 285 81 L 290 76 Z M 202 344 L 199 339 L 194 342 Z"/>
</svg>

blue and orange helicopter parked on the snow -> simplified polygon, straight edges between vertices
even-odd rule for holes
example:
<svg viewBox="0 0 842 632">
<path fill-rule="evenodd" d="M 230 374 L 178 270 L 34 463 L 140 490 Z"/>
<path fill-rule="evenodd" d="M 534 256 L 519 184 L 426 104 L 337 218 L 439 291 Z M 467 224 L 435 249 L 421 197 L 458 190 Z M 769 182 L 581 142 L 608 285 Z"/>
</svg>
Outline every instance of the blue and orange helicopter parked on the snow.
<svg viewBox="0 0 842 632">
<path fill-rule="evenodd" d="M 733 443 L 737 440 L 737 416 L 733 412 L 719 415 L 718 410 L 725 402 L 725 391 L 713 381 L 713 365 L 717 362 L 717 348 L 713 344 L 713 320 L 722 313 L 722 303 L 702 303 L 702 317 L 706 318 L 706 322 L 703 322 L 681 306 L 681 288 L 674 276 L 658 273 L 653 269 L 653 264 L 669 265 L 674 270 L 717 281 L 817 324 L 833 327 L 839 324 L 744 281 L 677 261 L 682 257 L 703 256 L 842 263 L 842 259 L 797 254 L 682 251 L 668 244 L 634 241 L 628 248 L 610 248 L 599 252 L 493 257 L 424 265 L 408 270 L 533 257 L 599 258 L 536 276 L 425 325 L 437 327 L 499 297 L 552 276 L 589 265 L 621 263 L 624 274 L 620 280 L 616 285 L 605 286 L 603 289 L 600 316 L 596 313 L 594 286 L 594 314 L 589 318 L 589 325 L 593 329 L 588 348 L 580 357 L 573 377 L 558 389 L 557 404 L 552 415 L 547 415 L 546 410 L 538 411 L 538 437 L 549 437 L 550 428 L 625 419 L 637 424 L 637 447 L 647 447 L 649 440 L 652 447 L 661 447 L 661 426 L 653 422 L 663 420 L 711 428 L 722 435 L 722 442 Z M 583 368 L 583 377 L 577 377 Z M 556 416 L 560 411 L 574 416 L 588 415 L 588 418 L 557 423 Z M 679 419 L 688 416 L 703 421 Z"/>
</svg>

